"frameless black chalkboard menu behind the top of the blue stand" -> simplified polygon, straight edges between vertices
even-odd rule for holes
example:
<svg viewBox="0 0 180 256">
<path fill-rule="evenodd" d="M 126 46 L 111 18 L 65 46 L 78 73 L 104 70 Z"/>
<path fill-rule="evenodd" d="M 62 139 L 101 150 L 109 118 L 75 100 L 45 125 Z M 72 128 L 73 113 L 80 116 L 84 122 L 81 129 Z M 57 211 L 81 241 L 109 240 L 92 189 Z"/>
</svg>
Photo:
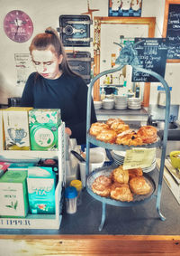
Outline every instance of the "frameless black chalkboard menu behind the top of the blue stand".
<svg viewBox="0 0 180 256">
<path fill-rule="evenodd" d="M 134 48 L 138 54 L 139 67 L 155 71 L 164 78 L 167 45 L 166 38 L 135 38 Z M 132 81 L 157 82 L 158 80 L 148 73 L 132 69 Z"/>
</svg>

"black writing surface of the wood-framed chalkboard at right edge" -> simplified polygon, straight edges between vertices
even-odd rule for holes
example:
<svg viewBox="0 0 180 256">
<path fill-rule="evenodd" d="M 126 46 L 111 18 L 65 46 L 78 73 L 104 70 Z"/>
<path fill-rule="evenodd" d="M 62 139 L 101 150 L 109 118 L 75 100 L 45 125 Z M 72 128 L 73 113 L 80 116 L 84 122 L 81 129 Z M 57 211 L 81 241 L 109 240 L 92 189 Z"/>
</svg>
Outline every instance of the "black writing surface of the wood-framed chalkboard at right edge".
<svg viewBox="0 0 180 256">
<path fill-rule="evenodd" d="M 169 5 L 166 38 L 167 59 L 180 59 L 180 5 Z"/>
</svg>

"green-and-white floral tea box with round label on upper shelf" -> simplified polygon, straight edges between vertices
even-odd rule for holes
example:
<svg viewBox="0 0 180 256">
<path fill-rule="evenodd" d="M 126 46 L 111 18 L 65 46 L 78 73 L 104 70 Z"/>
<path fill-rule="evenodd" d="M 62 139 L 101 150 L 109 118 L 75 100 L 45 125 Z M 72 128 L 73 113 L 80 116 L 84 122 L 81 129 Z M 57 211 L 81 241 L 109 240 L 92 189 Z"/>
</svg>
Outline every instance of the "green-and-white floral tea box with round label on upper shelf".
<svg viewBox="0 0 180 256">
<path fill-rule="evenodd" d="M 31 150 L 58 150 L 60 109 L 31 109 L 29 124 Z"/>
</svg>

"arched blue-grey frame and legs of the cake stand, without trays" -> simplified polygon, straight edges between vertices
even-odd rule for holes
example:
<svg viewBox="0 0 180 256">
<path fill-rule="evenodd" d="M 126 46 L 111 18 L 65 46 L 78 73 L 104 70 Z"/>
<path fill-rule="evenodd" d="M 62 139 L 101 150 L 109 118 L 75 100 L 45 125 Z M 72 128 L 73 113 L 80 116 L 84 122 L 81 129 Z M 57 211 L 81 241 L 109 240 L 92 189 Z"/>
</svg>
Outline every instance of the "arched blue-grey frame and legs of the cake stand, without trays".
<svg viewBox="0 0 180 256">
<path fill-rule="evenodd" d="M 162 83 L 162 85 L 164 86 L 164 88 L 166 90 L 165 128 L 164 128 L 163 141 L 161 143 L 161 147 L 162 147 L 161 164 L 160 164 L 160 171 L 159 171 L 159 176 L 158 176 L 157 195 L 156 195 L 156 197 L 157 197 L 157 203 L 156 203 L 157 213 L 158 213 L 161 221 L 165 221 L 166 218 L 160 212 L 160 199 L 161 199 L 162 181 L 163 181 L 163 173 L 164 173 L 165 158 L 166 158 L 166 142 L 167 142 L 167 136 L 168 136 L 168 122 L 169 122 L 169 114 L 170 114 L 170 90 L 169 90 L 169 87 L 168 87 L 166 81 L 163 79 L 163 77 L 161 77 L 159 74 L 157 74 L 157 72 L 148 71 L 146 69 L 139 67 L 139 59 L 137 56 L 137 52 L 134 50 L 132 43 L 130 43 L 130 42 L 126 43 L 126 45 L 121 49 L 120 56 L 118 57 L 116 62 L 120 64 L 119 67 L 99 73 L 91 81 L 89 88 L 88 88 L 87 112 L 86 112 L 86 177 L 89 175 L 89 149 L 90 149 L 91 138 L 89 137 L 88 131 L 89 131 L 89 128 L 91 125 L 91 123 L 90 123 L 90 121 L 91 121 L 91 98 L 92 98 L 92 90 L 93 90 L 94 82 L 106 74 L 113 73 L 116 71 L 121 71 L 121 69 L 125 65 L 131 65 L 131 67 L 136 69 L 137 71 L 148 73 L 148 74 L 154 76 L 155 78 L 157 78 L 158 81 L 160 81 Z M 101 143 L 99 141 L 95 141 L 95 139 L 93 140 L 93 143 L 94 143 L 94 145 L 97 145 L 100 147 L 106 147 L 106 144 Z M 111 145 L 109 148 L 112 149 L 113 145 Z M 114 148 L 115 148 L 115 150 L 118 150 L 118 148 L 119 148 L 119 150 L 127 149 L 127 147 L 122 147 L 122 146 L 118 146 L 118 145 L 114 145 Z M 93 194 L 93 193 L 91 193 L 91 191 L 89 189 L 87 189 L 87 192 L 91 195 Z M 102 221 L 99 226 L 99 231 L 102 231 L 103 224 L 105 222 L 105 204 L 106 204 L 106 202 L 103 200 L 103 198 L 101 201 L 102 201 Z M 123 206 L 123 204 L 120 206 Z"/>
</svg>

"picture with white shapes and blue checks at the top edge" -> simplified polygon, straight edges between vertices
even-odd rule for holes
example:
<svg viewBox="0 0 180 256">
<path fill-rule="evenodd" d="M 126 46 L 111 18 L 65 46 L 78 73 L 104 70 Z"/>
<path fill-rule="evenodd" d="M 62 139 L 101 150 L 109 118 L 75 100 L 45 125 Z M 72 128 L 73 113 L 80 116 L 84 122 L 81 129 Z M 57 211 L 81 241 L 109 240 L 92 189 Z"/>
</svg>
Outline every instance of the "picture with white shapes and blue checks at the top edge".
<svg viewBox="0 0 180 256">
<path fill-rule="evenodd" d="M 109 16 L 140 17 L 142 0 L 109 0 Z"/>
</svg>

